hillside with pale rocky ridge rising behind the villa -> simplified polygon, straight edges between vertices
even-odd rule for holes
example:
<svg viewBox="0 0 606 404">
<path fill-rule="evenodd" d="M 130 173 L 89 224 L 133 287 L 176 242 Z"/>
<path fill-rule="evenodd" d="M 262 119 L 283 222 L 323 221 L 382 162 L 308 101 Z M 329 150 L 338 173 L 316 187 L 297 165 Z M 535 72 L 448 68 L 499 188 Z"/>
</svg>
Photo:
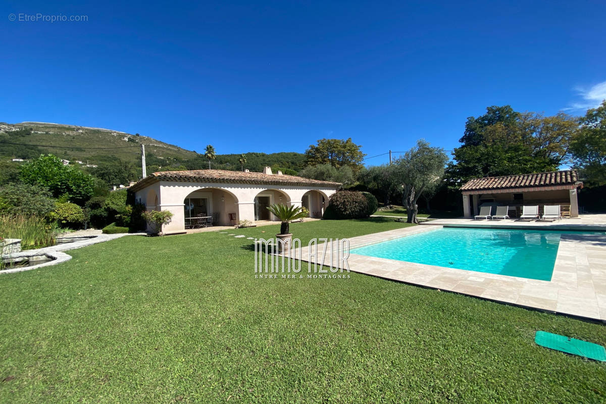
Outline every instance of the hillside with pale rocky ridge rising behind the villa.
<svg viewBox="0 0 606 404">
<path fill-rule="evenodd" d="M 199 170 L 208 168 L 202 154 L 167 144 L 152 137 L 122 131 L 51 124 L 45 122 L 0 123 L 0 162 L 12 159 L 32 159 L 52 153 L 71 162 L 81 161 L 95 176 L 112 183 L 108 170 L 121 171 L 121 182 L 141 177 L 141 144 L 145 145 L 147 172 L 159 170 Z M 203 153 L 202 150 L 199 152 Z M 239 154 L 217 154 L 211 167 L 221 170 L 241 170 Z M 293 174 L 305 167 L 302 153 L 245 153 L 244 168 L 262 171 L 266 165 Z M 110 169 L 108 169 L 110 167 Z M 290 171 L 292 170 L 292 171 Z M 101 173 L 103 171 L 103 173 Z M 115 173 L 114 173 L 115 174 Z M 125 177 L 124 177 L 125 176 Z M 115 177 L 115 175 L 114 175 Z"/>
</svg>

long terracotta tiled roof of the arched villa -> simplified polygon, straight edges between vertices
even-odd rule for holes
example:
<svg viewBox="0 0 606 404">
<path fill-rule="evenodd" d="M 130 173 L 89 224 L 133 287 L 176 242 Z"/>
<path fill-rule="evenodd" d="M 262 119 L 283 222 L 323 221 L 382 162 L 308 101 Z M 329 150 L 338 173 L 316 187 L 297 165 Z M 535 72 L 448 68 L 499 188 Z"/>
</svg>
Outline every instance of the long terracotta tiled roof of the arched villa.
<svg viewBox="0 0 606 404">
<path fill-rule="evenodd" d="M 222 182 L 235 184 L 269 184 L 269 185 L 311 185 L 313 187 L 341 187 L 339 182 L 320 181 L 304 177 L 246 173 L 242 171 L 228 170 L 187 170 L 187 171 L 159 171 L 145 177 L 133 185 L 133 190 L 138 190 L 156 180 L 183 181 L 183 182 Z"/>
</svg>

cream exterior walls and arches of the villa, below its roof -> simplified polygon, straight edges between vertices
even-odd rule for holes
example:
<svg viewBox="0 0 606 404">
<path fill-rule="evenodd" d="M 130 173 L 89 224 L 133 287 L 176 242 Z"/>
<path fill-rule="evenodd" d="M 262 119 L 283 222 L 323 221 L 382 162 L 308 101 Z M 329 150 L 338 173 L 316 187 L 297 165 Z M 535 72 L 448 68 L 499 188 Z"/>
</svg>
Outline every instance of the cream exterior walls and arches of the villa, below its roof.
<svg viewBox="0 0 606 404">
<path fill-rule="evenodd" d="M 209 182 L 182 182 L 182 181 L 158 181 L 135 192 L 135 198 L 145 204 L 147 210 L 169 210 L 173 213 L 173 219 L 162 228 L 165 233 L 177 233 L 185 231 L 184 206 L 185 198 L 194 191 L 204 192 L 205 188 L 213 188 L 211 191 L 211 211 L 220 213 L 220 223 L 229 225 L 228 214 L 236 213 L 236 224 L 239 220 L 250 220 L 255 222 L 255 197 L 259 194 L 272 196 L 271 203 L 301 206 L 302 196 L 311 190 L 318 191 L 326 199 L 336 192 L 336 188 L 326 187 L 301 187 L 294 185 L 257 185 L 257 184 L 221 184 Z M 279 191 L 279 192 L 276 192 Z M 284 194 L 285 198 L 279 200 Z M 158 205 L 155 199 L 158 196 Z M 192 196 L 194 197 L 194 196 Z M 224 200 L 222 200 L 222 198 Z"/>
</svg>

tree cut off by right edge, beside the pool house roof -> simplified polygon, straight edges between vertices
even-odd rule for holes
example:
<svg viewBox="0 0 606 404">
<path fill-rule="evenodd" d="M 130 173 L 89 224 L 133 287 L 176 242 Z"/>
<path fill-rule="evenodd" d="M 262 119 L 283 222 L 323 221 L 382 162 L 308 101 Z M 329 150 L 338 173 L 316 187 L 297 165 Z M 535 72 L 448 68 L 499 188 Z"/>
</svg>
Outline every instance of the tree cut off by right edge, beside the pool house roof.
<svg viewBox="0 0 606 404">
<path fill-rule="evenodd" d="M 591 108 L 579 122 L 581 130 L 571 144 L 571 154 L 590 185 L 606 184 L 606 100 Z"/>
</svg>

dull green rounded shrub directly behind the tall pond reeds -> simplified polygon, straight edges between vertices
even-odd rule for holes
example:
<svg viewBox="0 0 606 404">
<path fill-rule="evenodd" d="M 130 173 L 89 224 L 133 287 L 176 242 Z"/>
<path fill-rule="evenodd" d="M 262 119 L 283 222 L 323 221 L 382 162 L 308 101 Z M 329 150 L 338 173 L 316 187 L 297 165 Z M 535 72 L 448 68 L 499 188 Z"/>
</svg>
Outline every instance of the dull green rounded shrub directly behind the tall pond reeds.
<svg viewBox="0 0 606 404">
<path fill-rule="evenodd" d="M 0 187 L 0 213 L 45 217 L 55 209 L 55 199 L 48 188 L 29 184 Z"/>
</svg>

